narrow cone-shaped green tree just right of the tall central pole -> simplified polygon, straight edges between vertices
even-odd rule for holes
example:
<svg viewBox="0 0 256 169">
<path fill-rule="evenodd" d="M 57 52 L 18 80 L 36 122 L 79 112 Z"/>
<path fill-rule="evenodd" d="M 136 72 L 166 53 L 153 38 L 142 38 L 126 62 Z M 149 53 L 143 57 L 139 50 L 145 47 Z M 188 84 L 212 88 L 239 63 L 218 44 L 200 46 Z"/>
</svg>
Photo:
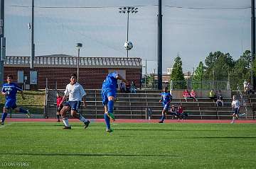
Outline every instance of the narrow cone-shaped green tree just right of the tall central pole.
<svg viewBox="0 0 256 169">
<path fill-rule="evenodd" d="M 174 66 L 171 70 L 171 81 L 173 81 L 174 89 L 183 89 L 185 88 L 186 81 L 182 72 L 182 61 L 181 57 L 176 57 L 174 59 Z M 179 81 L 179 82 L 178 82 Z M 175 83 L 174 83 L 175 82 Z"/>
</svg>

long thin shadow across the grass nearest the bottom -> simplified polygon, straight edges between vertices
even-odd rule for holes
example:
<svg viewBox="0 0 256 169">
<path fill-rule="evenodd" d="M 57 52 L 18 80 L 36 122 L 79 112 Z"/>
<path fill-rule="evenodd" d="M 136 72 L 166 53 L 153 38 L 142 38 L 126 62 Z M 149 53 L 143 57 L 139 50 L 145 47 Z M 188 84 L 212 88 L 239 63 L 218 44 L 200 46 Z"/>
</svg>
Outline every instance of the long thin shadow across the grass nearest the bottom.
<svg viewBox="0 0 256 169">
<path fill-rule="evenodd" d="M 127 157 L 178 157 L 162 154 L 114 154 L 114 153 L 0 153 L 1 155 L 16 155 L 16 156 L 127 156 Z"/>
</svg>

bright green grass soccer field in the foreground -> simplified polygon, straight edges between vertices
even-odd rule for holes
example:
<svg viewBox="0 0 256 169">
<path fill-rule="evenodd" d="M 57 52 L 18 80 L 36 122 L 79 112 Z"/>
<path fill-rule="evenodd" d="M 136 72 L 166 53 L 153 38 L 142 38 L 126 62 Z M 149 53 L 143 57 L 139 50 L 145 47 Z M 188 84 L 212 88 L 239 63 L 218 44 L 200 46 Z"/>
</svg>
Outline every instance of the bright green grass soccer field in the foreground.
<svg viewBox="0 0 256 169">
<path fill-rule="evenodd" d="M 7 122 L 0 168 L 255 168 L 256 124 Z M 26 163 L 26 166 L 17 166 Z"/>
</svg>

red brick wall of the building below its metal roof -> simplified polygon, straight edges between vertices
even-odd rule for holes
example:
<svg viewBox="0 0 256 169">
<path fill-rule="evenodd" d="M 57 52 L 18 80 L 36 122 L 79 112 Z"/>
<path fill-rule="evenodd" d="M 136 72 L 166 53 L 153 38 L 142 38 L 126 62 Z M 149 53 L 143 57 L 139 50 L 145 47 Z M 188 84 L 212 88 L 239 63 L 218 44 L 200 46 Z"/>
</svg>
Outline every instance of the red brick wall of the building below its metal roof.
<svg viewBox="0 0 256 169">
<path fill-rule="evenodd" d="M 30 68 L 24 67 L 4 67 L 4 78 L 7 74 L 14 76 L 14 81 L 17 81 L 18 71 L 24 71 L 24 76 L 28 76 L 29 83 L 29 71 Z M 49 88 L 55 88 L 55 81 L 57 81 L 58 88 L 65 88 L 70 82 L 70 74 L 77 73 L 76 68 L 45 68 L 36 67 L 35 71 L 38 71 L 38 86 L 31 86 L 33 89 L 46 88 L 46 78 L 48 78 Z M 102 81 L 104 81 L 108 69 L 102 68 L 80 68 L 79 71 L 79 83 L 84 88 L 97 89 L 101 88 Z M 129 81 L 134 81 L 137 87 L 140 87 L 140 81 L 142 77 L 142 69 L 126 69 L 126 77 Z"/>
</svg>

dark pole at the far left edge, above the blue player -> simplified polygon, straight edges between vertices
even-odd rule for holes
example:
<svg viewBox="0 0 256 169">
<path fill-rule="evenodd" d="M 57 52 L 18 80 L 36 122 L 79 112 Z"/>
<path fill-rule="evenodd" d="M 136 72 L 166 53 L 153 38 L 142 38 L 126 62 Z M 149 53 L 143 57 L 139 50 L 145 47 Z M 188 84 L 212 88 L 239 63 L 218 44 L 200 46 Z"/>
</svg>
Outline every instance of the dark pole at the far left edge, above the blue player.
<svg viewBox="0 0 256 169">
<path fill-rule="evenodd" d="M 4 60 L 6 55 L 6 42 L 4 37 L 4 0 L 0 0 L 0 83 L 4 82 Z"/>
</svg>

